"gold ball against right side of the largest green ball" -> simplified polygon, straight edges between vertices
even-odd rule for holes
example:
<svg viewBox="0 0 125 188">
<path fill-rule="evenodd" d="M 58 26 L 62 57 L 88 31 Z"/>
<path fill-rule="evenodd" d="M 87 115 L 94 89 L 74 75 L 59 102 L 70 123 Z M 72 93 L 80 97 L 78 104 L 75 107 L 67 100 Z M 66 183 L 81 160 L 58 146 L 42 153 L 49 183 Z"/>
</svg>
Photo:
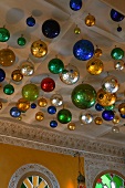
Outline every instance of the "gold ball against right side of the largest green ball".
<svg viewBox="0 0 125 188">
<path fill-rule="evenodd" d="M 97 92 L 97 103 L 102 106 L 111 106 L 116 102 L 115 93 L 106 93 L 103 88 Z"/>
</svg>

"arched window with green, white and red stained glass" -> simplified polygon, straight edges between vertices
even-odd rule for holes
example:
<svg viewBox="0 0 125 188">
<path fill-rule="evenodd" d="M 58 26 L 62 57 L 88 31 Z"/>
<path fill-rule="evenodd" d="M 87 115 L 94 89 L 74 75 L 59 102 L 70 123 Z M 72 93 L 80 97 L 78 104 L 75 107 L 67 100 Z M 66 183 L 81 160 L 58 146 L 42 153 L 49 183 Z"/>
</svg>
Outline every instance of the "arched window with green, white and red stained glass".
<svg viewBox="0 0 125 188">
<path fill-rule="evenodd" d="M 103 171 L 96 177 L 93 188 L 125 188 L 125 180 L 117 171 Z"/>
</svg>

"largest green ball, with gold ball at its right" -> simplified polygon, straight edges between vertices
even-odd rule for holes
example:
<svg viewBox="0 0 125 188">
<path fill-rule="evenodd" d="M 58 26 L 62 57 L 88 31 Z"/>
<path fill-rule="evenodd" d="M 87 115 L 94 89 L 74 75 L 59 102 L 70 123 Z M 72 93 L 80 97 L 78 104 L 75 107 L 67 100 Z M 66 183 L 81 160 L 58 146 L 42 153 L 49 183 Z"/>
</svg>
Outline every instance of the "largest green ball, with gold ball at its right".
<svg viewBox="0 0 125 188">
<path fill-rule="evenodd" d="M 92 107 L 96 102 L 96 91 L 90 84 L 77 85 L 71 95 L 73 104 L 82 109 Z"/>
</svg>

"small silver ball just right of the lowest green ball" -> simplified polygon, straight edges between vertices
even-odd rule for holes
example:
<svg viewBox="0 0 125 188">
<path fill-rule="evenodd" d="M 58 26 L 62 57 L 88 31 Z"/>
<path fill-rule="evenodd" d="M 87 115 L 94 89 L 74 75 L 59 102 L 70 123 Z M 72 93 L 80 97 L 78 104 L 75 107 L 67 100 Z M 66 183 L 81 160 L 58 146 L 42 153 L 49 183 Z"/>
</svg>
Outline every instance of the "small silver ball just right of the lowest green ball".
<svg viewBox="0 0 125 188">
<path fill-rule="evenodd" d="M 80 114 L 80 121 L 82 124 L 91 124 L 93 122 L 93 116 L 90 113 L 82 112 Z"/>
</svg>

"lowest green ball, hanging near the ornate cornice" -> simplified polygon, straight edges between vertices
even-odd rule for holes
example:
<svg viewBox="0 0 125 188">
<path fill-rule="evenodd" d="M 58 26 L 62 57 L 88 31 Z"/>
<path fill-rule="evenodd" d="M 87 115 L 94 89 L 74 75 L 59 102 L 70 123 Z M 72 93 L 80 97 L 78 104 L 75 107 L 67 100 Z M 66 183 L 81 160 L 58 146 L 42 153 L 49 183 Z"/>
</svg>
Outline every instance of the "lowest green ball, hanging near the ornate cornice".
<svg viewBox="0 0 125 188">
<path fill-rule="evenodd" d="M 72 114 L 69 109 L 60 109 L 58 112 L 58 121 L 61 123 L 61 124 L 67 124 L 69 122 L 72 121 Z"/>
</svg>

